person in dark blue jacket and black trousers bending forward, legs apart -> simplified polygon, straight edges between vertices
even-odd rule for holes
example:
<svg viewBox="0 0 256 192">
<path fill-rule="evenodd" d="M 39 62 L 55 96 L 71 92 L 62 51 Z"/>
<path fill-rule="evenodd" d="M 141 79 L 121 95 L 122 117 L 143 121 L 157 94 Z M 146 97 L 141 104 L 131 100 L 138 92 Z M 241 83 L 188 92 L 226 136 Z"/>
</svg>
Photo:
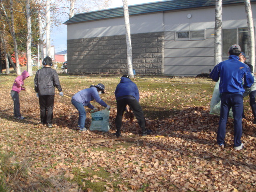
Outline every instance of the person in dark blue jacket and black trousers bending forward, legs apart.
<svg viewBox="0 0 256 192">
<path fill-rule="evenodd" d="M 132 80 L 130 80 L 128 75 L 123 75 L 121 77 L 120 83 L 116 86 L 115 96 L 117 108 L 115 121 L 116 137 L 118 138 L 121 136 L 122 116 L 126 110 L 126 105 L 130 107 L 136 119 L 138 120 L 138 124 L 142 128 L 142 136 L 150 134 L 152 131 L 145 128 L 146 121 L 142 108 L 139 104 L 140 94 L 138 87 L 134 82 L 132 82 Z"/>
</svg>

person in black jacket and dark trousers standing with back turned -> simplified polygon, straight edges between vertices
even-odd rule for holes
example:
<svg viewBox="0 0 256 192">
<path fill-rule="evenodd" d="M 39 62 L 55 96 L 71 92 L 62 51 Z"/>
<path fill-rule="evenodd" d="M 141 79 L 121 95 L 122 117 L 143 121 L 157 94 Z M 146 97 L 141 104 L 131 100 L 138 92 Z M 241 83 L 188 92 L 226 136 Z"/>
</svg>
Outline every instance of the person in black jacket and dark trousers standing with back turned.
<svg viewBox="0 0 256 192">
<path fill-rule="evenodd" d="M 63 96 L 63 92 L 58 74 L 51 68 L 52 59 L 47 56 L 42 64 L 44 67 L 36 72 L 34 85 L 36 96 L 39 97 L 41 122 L 52 128 L 55 87 L 60 92 L 60 96 Z"/>
</svg>

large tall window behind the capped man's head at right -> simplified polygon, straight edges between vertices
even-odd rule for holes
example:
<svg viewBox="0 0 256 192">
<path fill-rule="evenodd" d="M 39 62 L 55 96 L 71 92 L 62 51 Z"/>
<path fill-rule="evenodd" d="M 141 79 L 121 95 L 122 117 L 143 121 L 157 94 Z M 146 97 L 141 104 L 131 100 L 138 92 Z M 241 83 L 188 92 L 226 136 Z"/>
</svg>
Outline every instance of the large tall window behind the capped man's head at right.
<svg viewBox="0 0 256 192">
<path fill-rule="evenodd" d="M 228 50 L 234 44 L 238 44 L 248 55 L 248 28 L 222 30 L 222 56 L 228 56 Z"/>
</svg>

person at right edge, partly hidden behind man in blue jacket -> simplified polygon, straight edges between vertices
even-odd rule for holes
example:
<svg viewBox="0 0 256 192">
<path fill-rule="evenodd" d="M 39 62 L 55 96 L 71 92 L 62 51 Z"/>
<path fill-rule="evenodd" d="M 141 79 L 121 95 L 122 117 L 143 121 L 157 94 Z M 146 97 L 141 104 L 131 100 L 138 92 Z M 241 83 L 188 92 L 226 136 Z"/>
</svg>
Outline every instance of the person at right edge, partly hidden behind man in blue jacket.
<svg viewBox="0 0 256 192">
<path fill-rule="evenodd" d="M 252 109 L 252 114 L 254 116 L 254 121 L 253 124 L 256 124 L 256 102 L 255 102 L 255 98 L 256 98 L 256 77 L 253 74 L 253 66 L 251 64 L 248 64 L 246 62 L 246 54 L 244 52 L 241 52 L 241 55 L 239 56 L 239 61 L 248 65 L 250 68 L 250 72 L 252 73 L 252 76 L 254 77 L 254 83 L 252 84 L 252 86 L 250 88 L 244 88 L 245 92 L 243 93 L 243 96 L 246 97 L 249 95 L 249 103 Z M 243 118 L 245 118 L 244 113 L 243 113 Z"/>
</svg>

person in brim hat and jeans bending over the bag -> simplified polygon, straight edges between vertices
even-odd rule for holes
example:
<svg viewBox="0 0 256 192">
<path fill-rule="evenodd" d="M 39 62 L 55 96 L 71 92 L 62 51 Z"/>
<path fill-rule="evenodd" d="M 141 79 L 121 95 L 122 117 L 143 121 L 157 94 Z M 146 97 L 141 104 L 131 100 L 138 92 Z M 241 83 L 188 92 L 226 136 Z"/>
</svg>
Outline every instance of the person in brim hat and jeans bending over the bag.
<svg viewBox="0 0 256 192">
<path fill-rule="evenodd" d="M 105 86 L 99 83 L 98 85 L 91 85 L 90 88 L 83 89 L 72 96 L 71 103 L 79 112 L 77 130 L 87 131 L 87 128 L 84 125 L 86 120 L 84 106 L 88 106 L 88 108 L 97 111 L 98 109 L 90 104 L 94 99 L 101 106 L 106 107 L 108 110 L 110 109 L 110 106 L 100 98 L 100 94 L 105 93 L 104 90 Z"/>
</svg>

